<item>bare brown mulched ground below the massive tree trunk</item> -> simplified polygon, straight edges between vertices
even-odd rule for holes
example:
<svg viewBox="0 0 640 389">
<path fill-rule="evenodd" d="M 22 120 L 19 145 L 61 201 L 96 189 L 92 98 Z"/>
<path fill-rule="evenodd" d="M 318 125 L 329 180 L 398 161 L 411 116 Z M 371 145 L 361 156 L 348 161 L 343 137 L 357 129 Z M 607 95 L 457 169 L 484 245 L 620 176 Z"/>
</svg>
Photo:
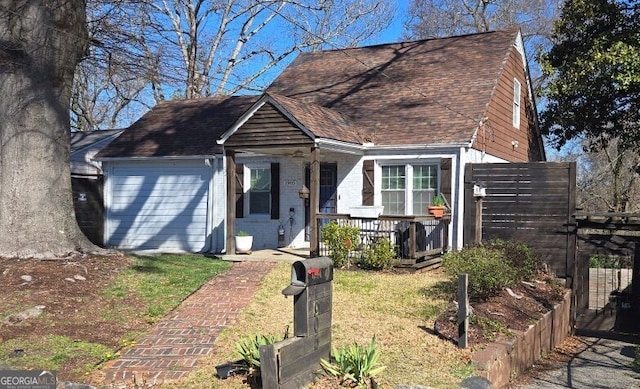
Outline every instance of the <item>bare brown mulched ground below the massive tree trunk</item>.
<svg viewBox="0 0 640 389">
<path fill-rule="evenodd" d="M 31 348 L 42 345 L 43 339 L 52 335 L 116 350 L 127 334 L 148 328 L 142 320 L 117 320 L 119 307 L 135 310 L 144 306 L 136 297 L 120 296 L 116 303 L 103 293 L 130 264 L 131 259 L 122 255 L 67 260 L 0 258 L 0 342 L 15 344 L 15 355 L 3 355 L 0 365 L 20 365 L 9 359 L 29 355 Z M 36 306 L 44 306 L 40 316 L 12 325 L 2 323 L 7 316 Z M 58 377 L 79 380 L 87 364 L 99 362 L 71 357 L 59 369 Z"/>
</svg>

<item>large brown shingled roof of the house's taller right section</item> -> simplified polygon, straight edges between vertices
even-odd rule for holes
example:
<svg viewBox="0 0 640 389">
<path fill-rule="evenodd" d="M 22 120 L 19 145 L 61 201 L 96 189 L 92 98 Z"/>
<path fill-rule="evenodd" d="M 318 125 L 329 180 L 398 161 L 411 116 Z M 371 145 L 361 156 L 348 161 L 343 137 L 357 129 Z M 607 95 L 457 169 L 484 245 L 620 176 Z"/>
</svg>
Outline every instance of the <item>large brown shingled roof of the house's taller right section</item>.
<svg viewBox="0 0 640 389">
<path fill-rule="evenodd" d="M 517 34 L 303 53 L 267 92 L 340 112 L 376 145 L 468 143 Z"/>
</svg>

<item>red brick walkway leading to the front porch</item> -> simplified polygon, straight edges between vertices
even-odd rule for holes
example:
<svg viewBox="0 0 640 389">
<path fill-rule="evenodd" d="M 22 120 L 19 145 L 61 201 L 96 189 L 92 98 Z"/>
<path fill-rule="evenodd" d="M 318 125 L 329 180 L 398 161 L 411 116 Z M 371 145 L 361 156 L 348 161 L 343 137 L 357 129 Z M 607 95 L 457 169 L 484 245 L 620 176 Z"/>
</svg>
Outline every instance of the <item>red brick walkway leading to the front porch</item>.
<svg viewBox="0 0 640 389">
<path fill-rule="evenodd" d="M 105 383 L 130 382 L 135 375 L 147 382 L 178 380 L 198 360 L 211 354 L 216 337 L 235 323 L 238 312 L 258 290 L 274 262 L 237 262 L 189 296 L 157 323 L 135 346 L 106 364 Z"/>
</svg>

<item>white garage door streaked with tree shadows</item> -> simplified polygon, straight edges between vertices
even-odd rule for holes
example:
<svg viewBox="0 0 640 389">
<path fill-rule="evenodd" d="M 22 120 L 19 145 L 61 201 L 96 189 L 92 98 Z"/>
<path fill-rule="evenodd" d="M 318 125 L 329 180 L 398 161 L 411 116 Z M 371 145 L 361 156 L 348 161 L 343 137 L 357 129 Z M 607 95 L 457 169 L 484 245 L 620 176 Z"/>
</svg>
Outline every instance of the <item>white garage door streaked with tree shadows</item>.
<svg viewBox="0 0 640 389">
<path fill-rule="evenodd" d="M 211 172 L 204 162 L 114 164 L 107 177 L 107 244 L 198 252 L 207 247 Z"/>
</svg>

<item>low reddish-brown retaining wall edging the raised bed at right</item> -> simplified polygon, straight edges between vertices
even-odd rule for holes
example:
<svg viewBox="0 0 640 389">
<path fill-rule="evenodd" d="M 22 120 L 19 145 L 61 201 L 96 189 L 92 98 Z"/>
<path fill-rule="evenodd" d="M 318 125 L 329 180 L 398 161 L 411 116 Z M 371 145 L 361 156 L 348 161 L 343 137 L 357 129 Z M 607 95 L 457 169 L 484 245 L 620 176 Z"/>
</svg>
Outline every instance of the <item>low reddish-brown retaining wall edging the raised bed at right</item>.
<svg viewBox="0 0 640 389">
<path fill-rule="evenodd" d="M 533 366 L 571 332 L 571 292 L 528 330 L 512 331 L 515 337 L 489 343 L 473 353 L 476 374 L 487 378 L 492 388 L 503 388 L 512 378 Z"/>
</svg>

